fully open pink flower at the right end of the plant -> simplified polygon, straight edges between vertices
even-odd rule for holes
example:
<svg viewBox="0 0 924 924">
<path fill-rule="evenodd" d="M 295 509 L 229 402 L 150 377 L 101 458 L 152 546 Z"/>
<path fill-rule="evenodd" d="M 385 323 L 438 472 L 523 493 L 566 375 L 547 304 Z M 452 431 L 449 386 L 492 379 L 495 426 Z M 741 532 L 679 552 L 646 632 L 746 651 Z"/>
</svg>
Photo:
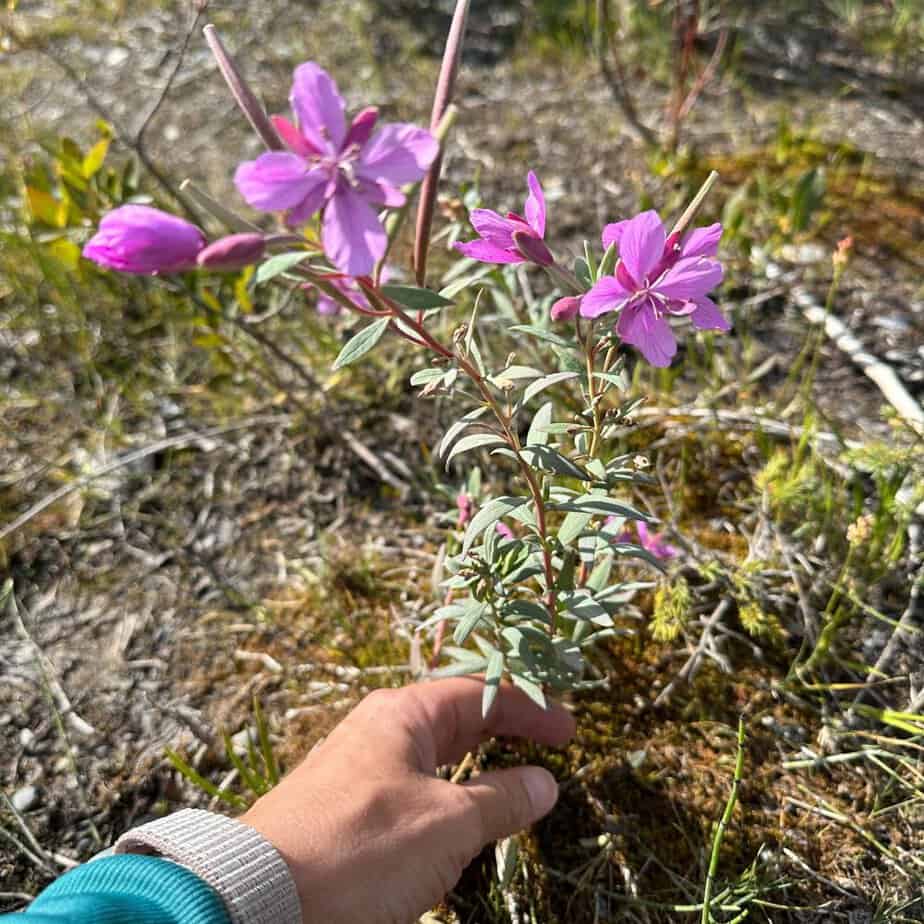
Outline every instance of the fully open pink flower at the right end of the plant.
<svg viewBox="0 0 924 924">
<path fill-rule="evenodd" d="M 637 347 L 653 366 L 669 366 L 677 341 L 667 317 L 688 316 L 699 330 L 728 330 L 730 325 L 706 295 L 722 281 L 714 259 L 722 226 L 696 228 L 682 242 L 668 239 L 654 211 L 607 225 L 603 246 L 616 243 L 620 260 L 584 296 L 581 315 L 596 318 L 620 312 L 616 332 Z"/>
</svg>

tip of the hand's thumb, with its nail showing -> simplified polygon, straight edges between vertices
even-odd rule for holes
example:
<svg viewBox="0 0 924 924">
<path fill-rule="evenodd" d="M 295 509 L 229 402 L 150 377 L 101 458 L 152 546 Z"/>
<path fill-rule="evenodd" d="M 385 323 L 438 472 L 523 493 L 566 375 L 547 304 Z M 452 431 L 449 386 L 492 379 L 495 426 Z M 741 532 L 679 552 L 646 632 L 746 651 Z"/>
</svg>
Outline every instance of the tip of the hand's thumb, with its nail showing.
<svg viewBox="0 0 924 924">
<path fill-rule="evenodd" d="M 514 767 L 483 773 L 465 784 L 481 817 L 481 844 L 528 828 L 558 801 L 558 783 L 542 767 Z"/>
</svg>

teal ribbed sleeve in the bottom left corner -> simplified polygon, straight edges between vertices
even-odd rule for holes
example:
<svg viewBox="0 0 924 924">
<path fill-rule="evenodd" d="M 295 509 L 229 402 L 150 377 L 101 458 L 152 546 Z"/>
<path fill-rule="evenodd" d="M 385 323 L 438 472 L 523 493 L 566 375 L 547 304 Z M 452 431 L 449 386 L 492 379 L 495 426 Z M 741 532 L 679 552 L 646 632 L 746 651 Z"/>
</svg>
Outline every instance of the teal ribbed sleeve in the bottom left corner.
<svg viewBox="0 0 924 924">
<path fill-rule="evenodd" d="M 231 924 L 218 894 L 169 860 L 120 854 L 55 880 L 0 924 Z"/>
</svg>

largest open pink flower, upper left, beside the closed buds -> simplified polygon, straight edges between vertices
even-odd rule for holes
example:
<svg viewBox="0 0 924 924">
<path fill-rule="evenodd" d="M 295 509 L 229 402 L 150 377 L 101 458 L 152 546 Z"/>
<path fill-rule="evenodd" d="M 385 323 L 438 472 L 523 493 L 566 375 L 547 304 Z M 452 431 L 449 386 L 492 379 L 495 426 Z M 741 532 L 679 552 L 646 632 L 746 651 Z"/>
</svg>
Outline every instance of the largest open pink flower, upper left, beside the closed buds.
<svg viewBox="0 0 924 924">
<path fill-rule="evenodd" d="M 293 226 L 323 209 L 327 257 L 341 272 L 365 276 L 388 242 L 373 206 L 404 205 L 399 187 L 423 178 L 439 144 L 414 125 L 391 123 L 374 131 L 376 109 L 364 109 L 347 127 L 337 84 L 314 62 L 296 68 L 290 102 L 297 126 L 273 119 L 289 150 L 241 164 L 234 182 L 248 205 L 286 211 Z"/>
</svg>

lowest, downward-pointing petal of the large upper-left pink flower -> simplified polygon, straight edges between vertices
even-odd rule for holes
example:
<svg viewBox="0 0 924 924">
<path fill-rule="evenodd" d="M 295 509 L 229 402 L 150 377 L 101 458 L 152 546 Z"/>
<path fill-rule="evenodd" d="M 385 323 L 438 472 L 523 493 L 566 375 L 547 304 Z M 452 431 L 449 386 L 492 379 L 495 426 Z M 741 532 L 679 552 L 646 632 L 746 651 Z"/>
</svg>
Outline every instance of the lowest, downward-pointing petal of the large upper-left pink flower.
<svg viewBox="0 0 924 924">
<path fill-rule="evenodd" d="M 327 203 L 321 240 L 324 253 L 348 276 L 368 276 L 388 245 L 375 211 L 346 183 L 338 185 Z"/>
</svg>

